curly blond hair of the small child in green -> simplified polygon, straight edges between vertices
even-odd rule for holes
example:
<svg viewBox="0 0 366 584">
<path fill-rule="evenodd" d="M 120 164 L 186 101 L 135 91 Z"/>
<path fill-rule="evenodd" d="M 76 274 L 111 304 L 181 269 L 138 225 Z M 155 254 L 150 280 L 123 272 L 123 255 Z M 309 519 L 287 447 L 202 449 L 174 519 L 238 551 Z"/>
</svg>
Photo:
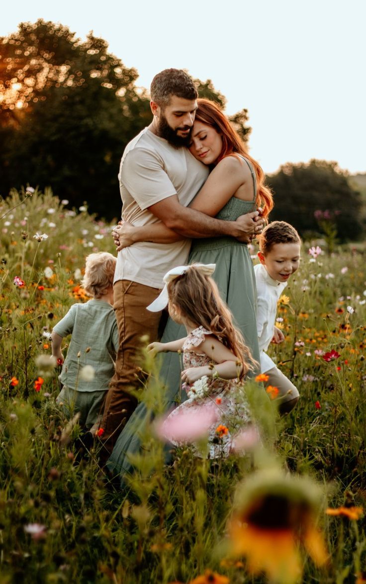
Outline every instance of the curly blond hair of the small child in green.
<svg viewBox="0 0 366 584">
<path fill-rule="evenodd" d="M 117 259 L 108 252 L 90 253 L 85 260 L 85 274 L 81 281 L 88 296 L 100 298 L 113 286 Z"/>
</svg>

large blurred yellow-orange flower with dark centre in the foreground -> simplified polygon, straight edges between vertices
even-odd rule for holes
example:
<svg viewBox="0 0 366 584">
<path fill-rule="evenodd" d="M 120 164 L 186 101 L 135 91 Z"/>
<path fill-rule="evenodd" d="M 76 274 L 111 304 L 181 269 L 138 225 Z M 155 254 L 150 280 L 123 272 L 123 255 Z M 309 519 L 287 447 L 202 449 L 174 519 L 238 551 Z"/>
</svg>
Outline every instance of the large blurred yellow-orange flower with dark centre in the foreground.
<svg viewBox="0 0 366 584">
<path fill-rule="evenodd" d="M 301 577 L 302 544 L 322 565 L 327 552 L 316 528 L 322 491 L 306 478 L 279 470 L 259 471 L 239 485 L 229 521 L 229 554 L 244 555 L 248 569 L 271 582 L 293 584 Z"/>
</svg>

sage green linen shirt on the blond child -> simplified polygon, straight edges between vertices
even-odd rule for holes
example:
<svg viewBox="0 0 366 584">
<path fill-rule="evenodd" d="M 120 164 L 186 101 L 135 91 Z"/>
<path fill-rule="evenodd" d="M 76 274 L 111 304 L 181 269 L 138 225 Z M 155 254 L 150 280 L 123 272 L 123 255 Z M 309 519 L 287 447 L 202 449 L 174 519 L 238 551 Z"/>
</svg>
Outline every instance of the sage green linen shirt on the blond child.
<svg viewBox="0 0 366 584">
<path fill-rule="evenodd" d="M 114 374 L 118 350 L 117 322 L 111 305 L 94 298 L 85 304 L 73 304 L 53 332 L 62 337 L 72 335 L 58 377 L 62 385 L 77 391 L 106 391 Z M 91 365 L 95 371 L 90 381 L 80 376 L 85 365 Z"/>
</svg>

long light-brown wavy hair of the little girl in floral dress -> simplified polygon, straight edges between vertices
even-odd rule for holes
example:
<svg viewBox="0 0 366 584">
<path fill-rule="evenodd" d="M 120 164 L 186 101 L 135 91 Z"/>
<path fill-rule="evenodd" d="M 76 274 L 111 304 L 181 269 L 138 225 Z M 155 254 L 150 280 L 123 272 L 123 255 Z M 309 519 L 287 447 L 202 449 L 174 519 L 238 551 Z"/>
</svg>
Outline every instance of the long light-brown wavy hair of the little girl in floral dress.
<svg viewBox="0 0 366 584">
<path fill-rule="evenodd" d="M 204 276 L 193 263 L 182 276 L 168 283 L 168 295 L 169 304 L 175 304 L 184 318 L 210 331 L 238 357 L 243 366 L 239 377 L 255 369 L 257 362 L 233 325 L 232 314 L 210 276 Z"/>
</svg>

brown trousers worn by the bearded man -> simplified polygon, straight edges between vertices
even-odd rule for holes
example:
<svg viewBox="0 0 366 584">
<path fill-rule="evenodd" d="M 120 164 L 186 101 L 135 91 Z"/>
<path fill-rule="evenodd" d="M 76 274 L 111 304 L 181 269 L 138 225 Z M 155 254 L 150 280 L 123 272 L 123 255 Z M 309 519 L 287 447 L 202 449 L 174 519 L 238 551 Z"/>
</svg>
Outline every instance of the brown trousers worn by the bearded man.
<svg viewBox="0 0 366 584">
<path fill-rule="evenodd" d="M 104 429 L 100 461 L 109 458 L 121 429 L 137 406 L 137 398 L 130 394 L 139 385 L 137 356 L 140 348 L 158 339 L 161 312 L 150 312 L 146 307 L 159 296 L 159 288 L 151 288 L 130 280 L 114 283 L 114 304 L 119 348 L 116 373 L 111 379 L 104 406 L 101 427 Z M 146 339 L 148 337 L 148 340 Z M 145 337 L 141 342 L 141 337 Z"/>
</svg>

